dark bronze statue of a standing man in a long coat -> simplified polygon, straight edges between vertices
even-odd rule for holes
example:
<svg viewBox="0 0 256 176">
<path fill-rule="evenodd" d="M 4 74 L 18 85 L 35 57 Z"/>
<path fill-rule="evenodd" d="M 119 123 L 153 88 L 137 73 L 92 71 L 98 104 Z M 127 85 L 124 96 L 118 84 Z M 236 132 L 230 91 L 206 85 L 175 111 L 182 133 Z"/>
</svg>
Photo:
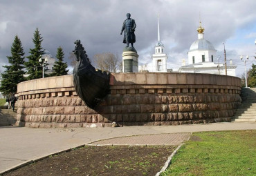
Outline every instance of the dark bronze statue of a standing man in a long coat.
<svg viewBox="0 0 256 176">
<path fill-rule="evenodd" d="M 131 47 L 134 47 L 134 43 L 136 42 L 136 37 L 134 34 L 136 23 L 134 19 L 131 19 L 131 14 L 126 14 L 127 19 L 125 19 L 124 23 L 122 23 L 122 32 L 125 30 L 124 33 L 124 40 L 123 43 L 127 43 L 127 47 L 129 47 L 129 43 L 131 43 Z"/>
</svg>

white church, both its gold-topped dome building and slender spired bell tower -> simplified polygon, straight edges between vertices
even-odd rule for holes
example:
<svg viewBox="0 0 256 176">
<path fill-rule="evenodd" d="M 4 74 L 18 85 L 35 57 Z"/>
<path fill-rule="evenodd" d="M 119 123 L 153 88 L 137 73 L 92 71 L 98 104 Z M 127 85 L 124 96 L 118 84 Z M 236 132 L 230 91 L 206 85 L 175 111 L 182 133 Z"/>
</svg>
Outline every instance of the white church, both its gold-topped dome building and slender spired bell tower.
<svg viewBox="0 0 256 176">
<path fill-rule="evenodd" d="M 193 73 L 210 73 L 217 75 L 226 75 L 225 65 L 219 63 L 219 58 L 216 57 L 216 51 L 210 41 L 203 37 L 204 28 L 200 26 L 197 28 L 198 39 L 192 43 L 188 51 L 188 65 L 183 61 L 183 66 L 179 68 L 178 72 L 193 72 Z M 154 54 L 152 55 L 152 63 L 147 66 L 139 66 L 139 71 L 149 72 L 168 72 L 167 69 L 167 55 L 164 52 L 164 45 L 160 39 L 159 32 L 159 17 L 158 17 L 158 41 L 155 46 Z M 235 69 L 237 66 L 232 65 L 232 62 L 227 68 L 227 75 L 235 76 Z"/>
</svg>

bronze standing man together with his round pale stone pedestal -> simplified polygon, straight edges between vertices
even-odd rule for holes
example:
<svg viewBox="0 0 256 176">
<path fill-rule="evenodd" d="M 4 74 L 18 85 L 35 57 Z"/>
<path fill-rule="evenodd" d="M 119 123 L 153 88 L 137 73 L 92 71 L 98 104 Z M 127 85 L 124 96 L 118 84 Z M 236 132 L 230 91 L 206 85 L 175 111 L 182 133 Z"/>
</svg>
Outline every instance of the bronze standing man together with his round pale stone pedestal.
<svg viewBox="0 0 256 176">
<path fill-rule="evenodd" d="M 122 51 L 122 72 L 138 72 L 138 54 L 134 48 L 136 36 L 134 34 L 136 23 L 131 19 L 131 14 L 127 13 L 127 19 L 122 23 L 122 32 L 124 32 L 123 43 L 127 46 Z M 131 43 L 131 46 L 129 44 Z"/>
</svg>

